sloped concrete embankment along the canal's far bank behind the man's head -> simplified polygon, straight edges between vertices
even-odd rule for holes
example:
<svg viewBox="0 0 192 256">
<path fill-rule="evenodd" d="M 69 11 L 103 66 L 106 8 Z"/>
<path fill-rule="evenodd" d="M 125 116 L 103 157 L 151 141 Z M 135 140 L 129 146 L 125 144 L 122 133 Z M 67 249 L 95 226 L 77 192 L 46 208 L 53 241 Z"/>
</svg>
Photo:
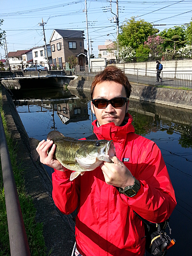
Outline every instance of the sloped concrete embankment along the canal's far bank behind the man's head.
<svg viewBox="0 0 192 256">
<path fill-rule="evenodd" d="M 90 90 L 93 79 L 93 76 L 78 77 L 70 81 L 68 88 Z M 158 88 L 133 82 L 131 84 L 130 98 L 192 110 L 192 91 Z"/>
</svg>

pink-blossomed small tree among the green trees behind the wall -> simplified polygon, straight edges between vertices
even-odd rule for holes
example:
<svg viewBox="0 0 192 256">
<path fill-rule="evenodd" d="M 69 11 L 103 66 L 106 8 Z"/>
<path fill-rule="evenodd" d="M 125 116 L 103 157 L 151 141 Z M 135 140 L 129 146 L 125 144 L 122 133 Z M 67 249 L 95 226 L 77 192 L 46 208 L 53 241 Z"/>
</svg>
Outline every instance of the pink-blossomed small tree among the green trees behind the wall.
<svg viewBox="0 0 192 256">
<path fill-rule="evenodd" d="M 163 44 L 164 39 L 157 35 L 152 35 L 152 36 L 148 36 L 147 41 L 144 42 L 145 45 L 148 46 L 148 48 L 150 48 L 150 53 L 152 54 L 152 56 L 157 56 L 157 55 L 161 55 L 163 52 Z"/>
</svg>

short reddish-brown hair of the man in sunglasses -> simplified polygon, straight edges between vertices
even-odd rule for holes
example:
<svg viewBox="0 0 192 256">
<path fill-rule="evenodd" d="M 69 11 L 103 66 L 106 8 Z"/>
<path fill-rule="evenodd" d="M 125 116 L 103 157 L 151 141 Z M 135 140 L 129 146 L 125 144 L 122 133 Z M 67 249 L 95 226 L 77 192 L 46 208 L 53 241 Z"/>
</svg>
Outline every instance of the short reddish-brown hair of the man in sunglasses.
<svg viewBox="0 0 192 256">
<path fill-rule="evenodd" d="M 122 84 L 126 91 L 126 97 L 129 98 L 131 94 L 131 84 L 124 72 L 115 66 L 108 66 L 99 74 L 97 74 L 92 82 L 91 86 L 91 98 L 93 99 L 93 92 L 97 83 L 104 81 L 114 81 Z"/>
</svg>

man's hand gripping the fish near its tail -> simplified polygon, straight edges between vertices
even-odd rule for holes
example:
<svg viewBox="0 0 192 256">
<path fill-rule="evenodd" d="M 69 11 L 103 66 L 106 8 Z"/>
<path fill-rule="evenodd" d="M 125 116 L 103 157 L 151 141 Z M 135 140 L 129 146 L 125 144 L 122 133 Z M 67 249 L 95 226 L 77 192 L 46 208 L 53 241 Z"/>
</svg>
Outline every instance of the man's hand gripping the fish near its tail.
<svg viewBox="0 0 192 256">
<path fill-rule="evenodd" d="M 53 146 L 52 146 L 53 145 Z M 52 146 L 49 154 L 47 153 L 49 148 Z M 40 162 L 46 164 L 54 169 L 61 170 L 62 172 L 65 171 L 65 167 L 62 164 L 53 158 L 55 152 L 56 145 L 53 144 L 52 140 L 42 140 L 39 142 L 36 151 L 40 156 Z"/>
</svg>

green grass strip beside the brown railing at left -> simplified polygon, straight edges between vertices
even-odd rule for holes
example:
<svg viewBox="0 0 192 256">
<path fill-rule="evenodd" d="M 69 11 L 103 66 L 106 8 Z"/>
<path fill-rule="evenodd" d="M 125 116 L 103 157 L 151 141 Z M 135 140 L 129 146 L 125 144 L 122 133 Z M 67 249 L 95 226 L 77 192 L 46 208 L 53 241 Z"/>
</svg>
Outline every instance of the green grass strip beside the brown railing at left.
<svg viewBox="0 0 192 256">
<path fill-rule="evenodd" d="M 8 131 L 5 114 L 2 110 L 2 94 L 0 91 L 0 112 L 2 115 L 2 120 L 4 124 L 4 130 L 6 134 L 9 154 L 11 158 L 11 165 L 13 168 L 15 183 L 17 187 L 17 193 L 19 197 L 20 207 L 22 209 L 22 215 L 25 223 L 25 229 L 27 233 L 29 248 L 31 256 L 45 256 L 46 246 L 43 236 L 43 225 L 42 223 L 36 223 L 35 214 L 36 209 L 34 208 L 32 199 L 27 195 L 25 191 L 25 181 L 23 179 L 24 170 L 18 165 L 17 157 L 17 148 L 13 143 L 11 134 Z M 1 160 L 0 160 L 1 163 Z M 5 205 L 5 194 L 3 187 L 3 177 L 2 177 L 2 168 L 0 165 L 0 256 L 9 256 L 10 255 L 10 246 L 9 246 L 9 231 L 7 224 L 7 214 L 6 214 L 6 205 Z M 48 255 L 51 254 L 51 251 Z"/>
</svg>

